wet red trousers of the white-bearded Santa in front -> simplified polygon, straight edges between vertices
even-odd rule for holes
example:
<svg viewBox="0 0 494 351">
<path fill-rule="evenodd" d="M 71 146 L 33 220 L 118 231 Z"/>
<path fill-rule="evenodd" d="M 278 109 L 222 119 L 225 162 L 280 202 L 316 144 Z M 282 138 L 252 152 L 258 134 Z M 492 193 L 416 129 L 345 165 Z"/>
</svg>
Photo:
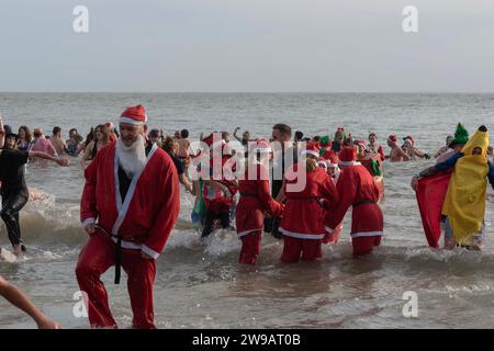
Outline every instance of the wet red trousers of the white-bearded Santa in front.
<svg viewBox="0 0 494 351">
<path fill-rule="evenodd" d="M 116 328 L 110 310 L 106 290 L 100 276 L 115 264 L 115 244 L 109 236 L 94 233 L 79 256 L 77 281 L 88 294 L 88 316 L 92 328 Z M 122 268 L 127 273 L 127 290 L 134 314 L 133 328 L 154 329 L 153 284 L 155 260 L 146 260 L 141 250 L 122 249 Z"/>
</svg>

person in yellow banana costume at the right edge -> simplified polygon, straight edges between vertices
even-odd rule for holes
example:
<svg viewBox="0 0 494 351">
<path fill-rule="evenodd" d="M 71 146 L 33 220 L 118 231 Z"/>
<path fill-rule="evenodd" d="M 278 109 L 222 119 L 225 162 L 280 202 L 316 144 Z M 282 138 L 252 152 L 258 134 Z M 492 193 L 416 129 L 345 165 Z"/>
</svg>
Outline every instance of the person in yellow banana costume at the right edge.
<svg viewBox="0 0 494 351">
<path fill-rule="evenodd" d="M 453 169 L 442 204 L 447 248 L 482 249 L 487 179 L 494 189 L 494 166 L 487 160 L 487 149 L 489 132 L 482 125 L 460 152 L 416 176 L 420 179 Z"/>
</svg>

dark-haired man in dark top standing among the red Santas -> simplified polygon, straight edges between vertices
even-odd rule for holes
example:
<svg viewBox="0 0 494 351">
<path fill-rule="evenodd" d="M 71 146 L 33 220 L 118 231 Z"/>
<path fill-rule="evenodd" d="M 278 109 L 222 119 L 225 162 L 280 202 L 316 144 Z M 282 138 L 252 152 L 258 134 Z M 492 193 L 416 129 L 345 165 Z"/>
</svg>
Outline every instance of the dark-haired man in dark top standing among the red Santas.
<svg viewBox="0 0 494 351">
<path fill-rule="evenodd" d="M 292 128 L 287 124 L 276 124 L 272 127 L 271 146 L 274 150 L 272 172 L 271 172 L 271 196 L 279 199 L 281 188 L 283 186 L 284 172 L 295 162 L 297 162 L 296 148 L 290 146 Z M 291 155 L 290 155 L 291 154 Z M 292 157 L 290 157 L 292 156 Z M 278 230 L 281 218 L 265 217 L 265 231 L 281 239 L 283 236 Z"/>
</svg>

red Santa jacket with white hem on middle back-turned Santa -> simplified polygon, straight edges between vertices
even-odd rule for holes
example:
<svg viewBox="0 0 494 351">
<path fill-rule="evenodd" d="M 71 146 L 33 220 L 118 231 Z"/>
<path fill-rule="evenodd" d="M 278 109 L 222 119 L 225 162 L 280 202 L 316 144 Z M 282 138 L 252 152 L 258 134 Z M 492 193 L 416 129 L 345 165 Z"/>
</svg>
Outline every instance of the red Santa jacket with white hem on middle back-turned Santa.
<svg viewBox="0 0 494 351">
<path fill-rule="evenodd" d="M 280 231 L 283 235 L 300 239 L 322 239 L 324 230 L 324 207 L 319 200 L 326 203 L 326 208 L 330 210 L 338 202 L 336 186 L 325 170 L 318 168 L 313 172 L 305 172 L 305 188 L 300 192 L 290 192 L 288 184 L 295 183 L 293 179 L 299 167 L 292 166 L 284 179 L 284 194 L 287 205 L 283 211 L 283 218 L 280 224 Z"/>
</svg>

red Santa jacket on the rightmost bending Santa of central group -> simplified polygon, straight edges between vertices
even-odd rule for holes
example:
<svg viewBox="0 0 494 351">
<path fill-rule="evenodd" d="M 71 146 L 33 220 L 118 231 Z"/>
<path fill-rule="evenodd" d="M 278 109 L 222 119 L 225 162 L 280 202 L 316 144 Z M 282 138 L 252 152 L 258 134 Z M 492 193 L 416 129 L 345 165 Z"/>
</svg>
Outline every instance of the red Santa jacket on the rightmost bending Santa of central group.
<svg viewBox="0 0 494 351">
<path fill-rule="evenodd" d="M 339 202 L 334 211 L 325 215 L 325 229 L 333 233 L 340 224 L 350 206 L 351 237 L 383 235 L 383 215 L 378 205 L 379 189 L 369 171 L 355 162 L 346 167 L 337 182 L 337 191 L 340 194 Z"/>
</svg>

